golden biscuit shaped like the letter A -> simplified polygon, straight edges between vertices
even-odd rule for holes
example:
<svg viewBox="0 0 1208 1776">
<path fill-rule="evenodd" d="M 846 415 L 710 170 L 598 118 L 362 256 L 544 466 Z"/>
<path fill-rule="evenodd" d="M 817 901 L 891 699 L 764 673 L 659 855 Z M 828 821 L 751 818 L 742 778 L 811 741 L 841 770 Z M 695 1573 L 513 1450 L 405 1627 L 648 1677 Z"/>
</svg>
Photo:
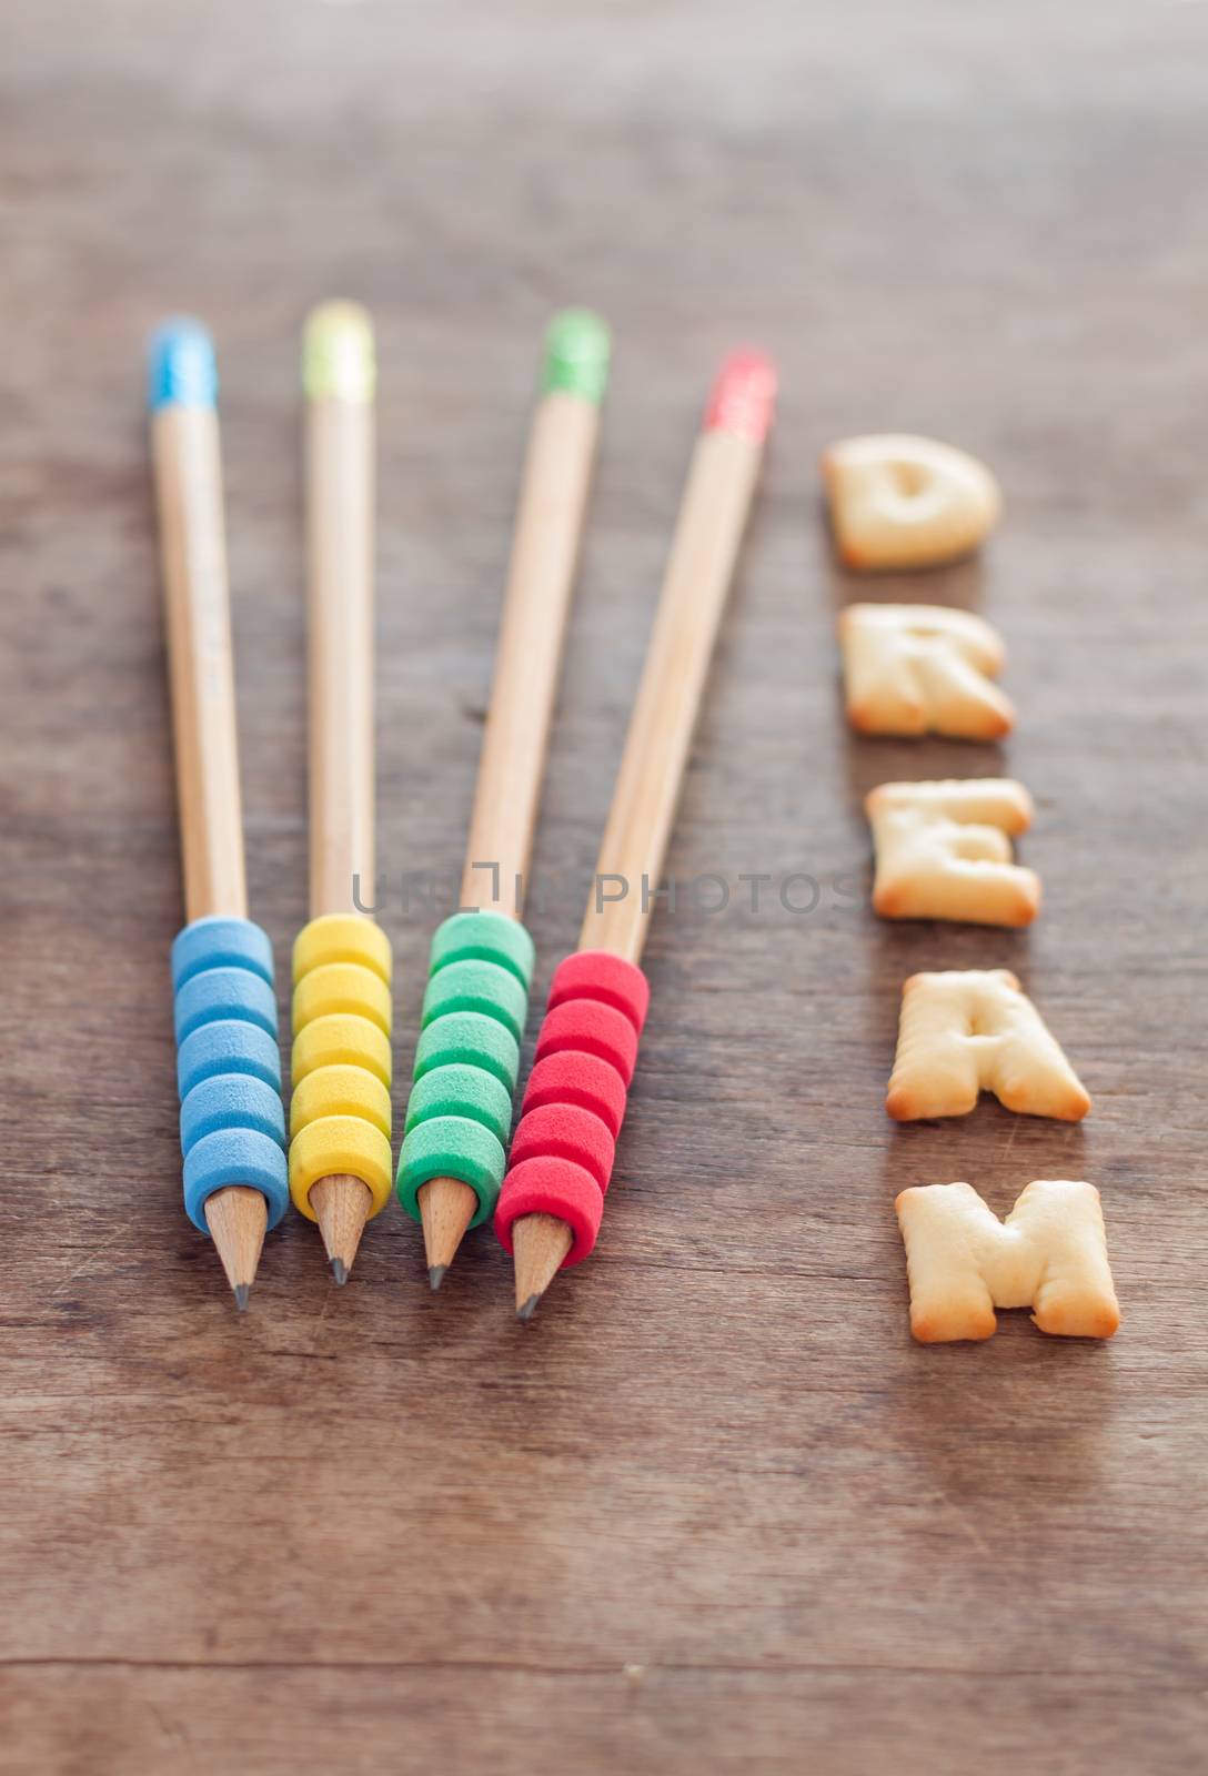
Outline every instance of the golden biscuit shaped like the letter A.
<svg viewBox="0 0 1208 1776">
<path fill-rule="evenodd" d="M 1080 1122 L 1091 1098 L 1005 968 L 911 975 L 885 1108 L 899 1122 L 965 1115 L 989 1090 L 1007 1110 Z"/>
</svg>

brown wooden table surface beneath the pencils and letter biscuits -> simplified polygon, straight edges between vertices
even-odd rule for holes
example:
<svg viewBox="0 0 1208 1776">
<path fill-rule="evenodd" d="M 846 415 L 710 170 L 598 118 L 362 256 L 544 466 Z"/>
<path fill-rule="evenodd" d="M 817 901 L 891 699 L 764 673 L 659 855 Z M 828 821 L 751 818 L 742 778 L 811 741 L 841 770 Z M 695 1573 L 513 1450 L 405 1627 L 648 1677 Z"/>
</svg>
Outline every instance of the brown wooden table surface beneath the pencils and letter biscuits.
<svg viewBox="0 0 1208 1776">
<path fill-rule="evenodd" d="M 0 1767 L 69 1776 L 1194 1769 L 1204 1712 L 1204 9 L 14 0 L 0 654 Z M 538 840 L 574 941 L 693 428 L 783 407 L 673 847 L 597 1257 L 519 1327 L 297 1218 L 240 1320 L 179 1202 L 179 924 L 142 350 L 224 373 L 252 913 L 306 918 L 298 323 L 378 321 L 382 920 L 401 1121 L 460 860 L 538 332 L 616 329 Z M 1011 744 L 840 718 L 819 448 L 959 442 Z M 1009 769 L 1027 936 L 878 924 L 863 792 Z M 739 874 L 773 877 L 759 913 Z M 780 888 L 814 876 L 819 904 Z M 414 886 L 414 884 L 412 884 Z M 810 890 L 791 884 L 805 904 Z M 1094 1092 L 892 1128 L 902 979 L 1016 968 Z M 282 966 L 284 977 L 284 966 Z M 284 1000 L 284 980 L 282 980 Z M 529 1035 L 531 1041 L 531 1035 Z M 1109 1346 L 911 1344 L 894 1193 L 1103 1192 Z"/>
</svg>

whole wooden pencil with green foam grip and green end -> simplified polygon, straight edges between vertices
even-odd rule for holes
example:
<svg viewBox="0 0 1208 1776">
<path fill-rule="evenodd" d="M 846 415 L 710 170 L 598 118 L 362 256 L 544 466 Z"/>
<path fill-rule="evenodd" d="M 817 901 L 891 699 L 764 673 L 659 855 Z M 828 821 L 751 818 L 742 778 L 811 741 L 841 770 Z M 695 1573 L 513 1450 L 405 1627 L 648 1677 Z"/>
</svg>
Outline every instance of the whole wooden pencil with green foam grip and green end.
<svg viewBox="0 0 1208 1776">
<path fill-rule="evenodd" d="M 433 936 L 398 1195 L 421 1220 L 437 1289 L 496 1206 L 512 1128 L 533 941 L 521 924 L 561 645 L 608 380 L 604 323 L 545 337 L 503 604 L 460 911 Z"/>
</svg>

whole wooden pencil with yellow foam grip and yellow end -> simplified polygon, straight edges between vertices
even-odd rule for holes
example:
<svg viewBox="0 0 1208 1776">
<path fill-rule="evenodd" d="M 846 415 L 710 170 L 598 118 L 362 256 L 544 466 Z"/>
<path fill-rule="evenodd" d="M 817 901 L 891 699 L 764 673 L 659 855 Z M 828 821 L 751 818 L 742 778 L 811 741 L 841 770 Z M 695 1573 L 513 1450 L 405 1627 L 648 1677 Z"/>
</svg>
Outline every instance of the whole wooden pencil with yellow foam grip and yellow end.
<svg viewBox="0 0 1208 1776">
<path fill-rule="evenodd" d="M 306 389 L 311 920 L 293 945 L 290 1193 L 338 1284 L 389 1199 L 391 945 L 373 906 L 373 389 L 370 316 L 325 302 Z"/>
</svg>

